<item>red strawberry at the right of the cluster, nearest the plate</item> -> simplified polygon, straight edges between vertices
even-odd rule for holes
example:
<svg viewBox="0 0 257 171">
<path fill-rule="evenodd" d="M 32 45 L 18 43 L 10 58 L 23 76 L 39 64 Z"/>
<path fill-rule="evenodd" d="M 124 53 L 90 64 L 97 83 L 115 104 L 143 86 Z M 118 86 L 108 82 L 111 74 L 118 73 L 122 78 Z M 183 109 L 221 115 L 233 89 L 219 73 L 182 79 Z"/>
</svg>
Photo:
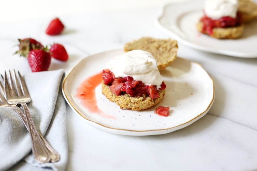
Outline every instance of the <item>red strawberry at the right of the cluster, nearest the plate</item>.
<svg viewBox="0 0 257 171">
<path fill-rule="evenodd" d="M 49 49 L 49 52 L 50 52 L 50 55 L 57 60 L 61 60 L 61 61 L 68 60 L 68 54 L 64 46 L 61 44 L 58 44 L 58 43 L 53 44 Z"/>
</svg>

